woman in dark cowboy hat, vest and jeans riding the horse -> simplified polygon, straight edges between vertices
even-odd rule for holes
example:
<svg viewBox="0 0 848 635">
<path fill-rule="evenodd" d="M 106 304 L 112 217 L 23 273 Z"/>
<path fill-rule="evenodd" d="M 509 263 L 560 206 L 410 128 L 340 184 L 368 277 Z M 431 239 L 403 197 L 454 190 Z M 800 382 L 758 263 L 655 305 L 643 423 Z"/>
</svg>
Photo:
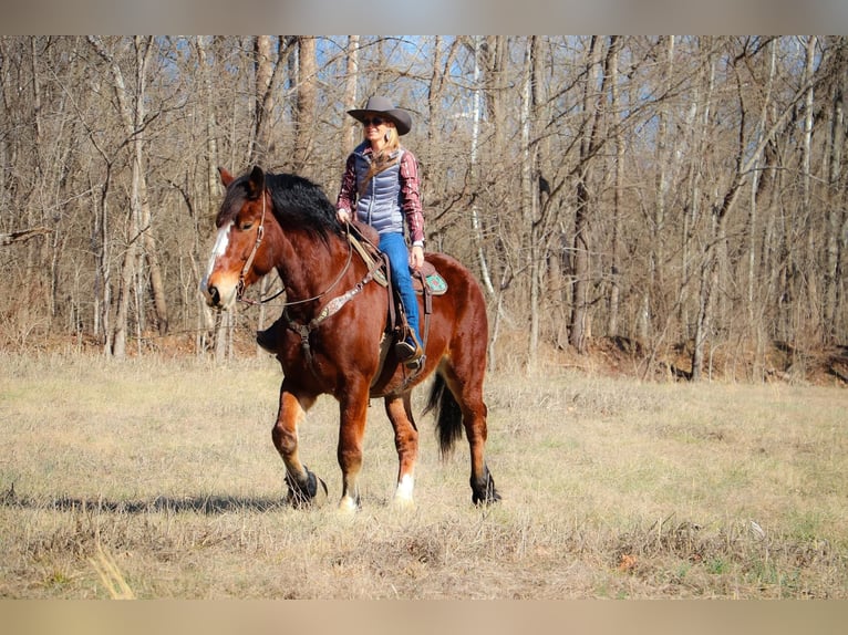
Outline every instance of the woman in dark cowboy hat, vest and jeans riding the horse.
<svg viewBox="0 0 848 635">
<path fill-rule="evenodd" d="M 360 222 L 380 235 L 380 251 L 389 258 L 392 284 L 400 293 L 410 325 L 405 340 L 395 344 L 395 353 L 407 366 L 415 366 L 424 351 L 410 268 L 418 270 L 424 264 L 424 215 L 418 165 L 400 140 L 412 128 L 412 117 L 380 96 L 370 97 L 362 108 L 348 114 L 362 124 L 363 140 L 345 162 L 337 215 L 339 221 L 347 223 L 355 214 Z M 411 251 L 404 238 L 404 220 Z"/>
</svg>

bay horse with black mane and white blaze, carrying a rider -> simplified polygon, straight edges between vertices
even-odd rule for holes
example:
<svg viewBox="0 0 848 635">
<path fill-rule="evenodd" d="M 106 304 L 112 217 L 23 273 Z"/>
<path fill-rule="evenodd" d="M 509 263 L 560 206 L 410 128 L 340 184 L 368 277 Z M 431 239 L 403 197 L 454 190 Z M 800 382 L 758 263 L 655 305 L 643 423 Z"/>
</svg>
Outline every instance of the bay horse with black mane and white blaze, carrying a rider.
<svg viewBox="0 0 848 635">
<path fill-rule="evenodd" d="M 311 504 L 319 485 L 328 493 L 325 482 L 301 462 L 298 425 L 320 395 L 332 395 L 339 403 L 339 508 L 361 508 L 358 477 L 372 398 L 384 400 L 394 428 L 399 459 L 394 500 L 412 503 L 418 429 L 411 394 L 431 375 L 435 377 L 424 414 L 435 413 L 442 456 L 464 428 L 470 449 L 472 501 L 479 506 L 500 500 L 485 460 L 488 322 L 474 275 L 451 256 L 426 254 L 447 290 L 431 298 L 426 318 L 424 296 L 420 299 L 425 356 L 420 368 L 411 369 L 395 357 L 389 342 L 392 298 L 374 281 L 374 266 L 352 250 L 351 228 L 337 219 L 320 186 L 298 175 L 266 174 L 259 166 L 239 177 L 226 168 L 218 170 L 226 191 L 200 289 L 210 306 L 226 310 L 271 270 L 282 281 L 283 327 L 272 352 L 283 379 L 271 438 L 286 468 L 287 501 L 292 507 Z M 359 230 L 373 231 L 364 225 Z"/>
</svg>

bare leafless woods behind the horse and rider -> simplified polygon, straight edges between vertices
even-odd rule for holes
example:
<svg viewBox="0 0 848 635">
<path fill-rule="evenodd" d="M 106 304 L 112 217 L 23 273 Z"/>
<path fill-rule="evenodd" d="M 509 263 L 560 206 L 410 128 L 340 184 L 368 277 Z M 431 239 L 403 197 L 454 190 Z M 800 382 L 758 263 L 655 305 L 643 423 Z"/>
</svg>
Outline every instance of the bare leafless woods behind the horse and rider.
<svg viewBox="0 0 848 635">
<path fill-rule="evenodd" d="M 848 344 L 847 71 L 842 37 L 2 37 L 0 346 L 234 354 L 279 305 L 199 298 L 217 166 L 334 199 L 385 94 L 494 366 L 609 340 L 761 381 Z"/>
</svg>

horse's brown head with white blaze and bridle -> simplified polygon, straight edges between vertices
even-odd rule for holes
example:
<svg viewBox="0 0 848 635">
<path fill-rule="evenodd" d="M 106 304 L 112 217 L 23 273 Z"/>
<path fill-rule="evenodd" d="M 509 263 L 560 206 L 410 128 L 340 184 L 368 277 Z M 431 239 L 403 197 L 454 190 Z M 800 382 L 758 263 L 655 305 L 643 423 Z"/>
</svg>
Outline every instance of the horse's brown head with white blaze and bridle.
<svg viewBox="0 0 848 635">
<path fill-rule="evenodd" d="M 215 219 L 218 236 L 200 291 L 209 306 L 228 309 L 270 270 L 262 257 L 262 238 L 273 215 L 261 168 L 238 178 L 224 168 L 218 171 L 227 191 Z"/>
</svg>

